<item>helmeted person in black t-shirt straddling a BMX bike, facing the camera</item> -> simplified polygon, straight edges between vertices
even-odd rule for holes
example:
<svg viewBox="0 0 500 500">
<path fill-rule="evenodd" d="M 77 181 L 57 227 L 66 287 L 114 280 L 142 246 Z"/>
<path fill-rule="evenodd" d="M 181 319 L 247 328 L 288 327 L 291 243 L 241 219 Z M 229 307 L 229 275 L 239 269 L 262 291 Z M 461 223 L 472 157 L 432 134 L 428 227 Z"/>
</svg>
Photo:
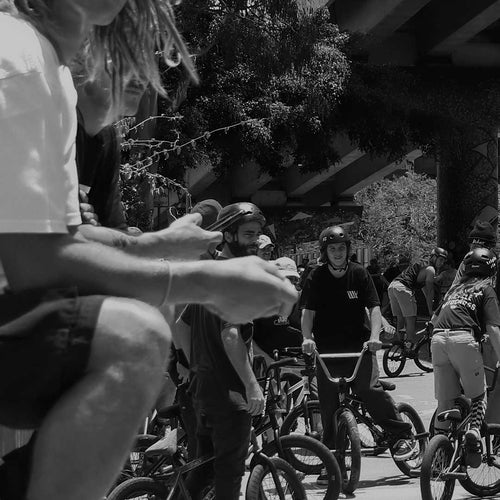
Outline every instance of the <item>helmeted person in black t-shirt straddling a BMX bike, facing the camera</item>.
<svg viewBox="0 0 500 500">
<path fill-rule="evenodd" d="M 319 238 L 322 265 L 307 277 L 302 291 L 303 351 L 310 354 L 359 352 L 367 345 L 354 381 L 357 395 L 364 401 L 374 421 L 390 436 L 395 460 L 408 460 L 415 449 L 410 441 L 410 424 L 402 421 L 391 396 L 378 379 L 375 352 L 382 347 L 380 303 L 368 271 L 349 262 L 351 241 L 340 226 L 326 228 Z M 365 324 L 366 309 L 369 328 Z M 356 359 L 325 359 L 334 376 L 350 376 Z M 333 415 L 339 407 L 336 394 L 321 369 L 317 371 L 318 392 L 323 421 L 323 441 L 335 448 Z"/>
</svg>

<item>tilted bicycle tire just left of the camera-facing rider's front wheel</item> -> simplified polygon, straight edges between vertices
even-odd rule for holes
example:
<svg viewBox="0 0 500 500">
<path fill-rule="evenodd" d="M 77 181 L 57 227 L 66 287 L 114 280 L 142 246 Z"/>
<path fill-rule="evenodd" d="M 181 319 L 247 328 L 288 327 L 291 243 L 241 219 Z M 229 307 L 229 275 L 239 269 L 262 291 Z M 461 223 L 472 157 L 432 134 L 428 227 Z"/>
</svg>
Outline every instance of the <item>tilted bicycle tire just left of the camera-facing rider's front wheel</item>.
<svg viewBox="0 0 500 500">
<path fill-rule="evenodd" d="M 283 449 L 283 458 L 296 471 L 305 475 L 320 475 L 322 469 L 326 469 L 328 475 L 328 487 L 325 491 L 325 500 L 336 500 L 340 495 L 341 473 L 340 467 L 334 454 L 323 444 L 308 436 L 290 435 L 279 438 Z M 298 450 L 306 450 L 299 458 Z M 278 446 L 272 441 L 264 447 L 264 453 L 271 457 L 278 454 Z M 306 463 L 303 457 L 313 458 L 314 463 Z"/>
</svg>

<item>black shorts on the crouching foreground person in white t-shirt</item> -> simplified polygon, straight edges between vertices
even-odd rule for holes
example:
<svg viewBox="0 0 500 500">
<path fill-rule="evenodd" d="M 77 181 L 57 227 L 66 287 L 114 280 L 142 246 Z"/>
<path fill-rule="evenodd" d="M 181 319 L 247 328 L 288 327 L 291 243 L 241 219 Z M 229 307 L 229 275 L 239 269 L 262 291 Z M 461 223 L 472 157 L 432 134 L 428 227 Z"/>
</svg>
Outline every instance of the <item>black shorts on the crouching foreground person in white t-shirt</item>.
<svg viewBox="0 0 500 500">
<path fill-rule="evenodd" d="M 36 429 L 83 376 L 105 298 L 75 288 L 0 295 L 0 424 Z"/>
</svg>

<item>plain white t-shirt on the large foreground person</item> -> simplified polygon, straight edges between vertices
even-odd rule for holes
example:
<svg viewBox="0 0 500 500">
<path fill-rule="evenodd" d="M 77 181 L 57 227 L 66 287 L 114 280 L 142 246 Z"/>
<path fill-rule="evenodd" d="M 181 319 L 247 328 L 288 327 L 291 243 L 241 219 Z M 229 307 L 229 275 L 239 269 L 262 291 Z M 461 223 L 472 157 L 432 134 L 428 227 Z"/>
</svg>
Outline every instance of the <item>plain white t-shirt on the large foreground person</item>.
<svg viewBox="0 0 500 500">
<path fill-rule="evenodd" d="M 81 224 L 76 100 L 47 38 L 0 13 L 1 233 L 66 233 Z"/>
</svg>

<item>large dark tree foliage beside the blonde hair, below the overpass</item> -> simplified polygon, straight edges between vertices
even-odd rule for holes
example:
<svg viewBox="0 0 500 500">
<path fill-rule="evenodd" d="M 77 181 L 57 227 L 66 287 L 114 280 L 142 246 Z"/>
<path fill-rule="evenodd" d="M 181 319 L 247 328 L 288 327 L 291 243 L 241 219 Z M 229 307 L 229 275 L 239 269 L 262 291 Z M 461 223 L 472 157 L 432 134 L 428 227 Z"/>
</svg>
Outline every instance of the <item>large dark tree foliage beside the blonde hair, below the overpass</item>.
<svg viewBox="0 0 500 500">
<path fill-rule="evenodd" d="M 203 158 L 219 174 L 254 160 L 272 175 L 296 163 L 320 170 L 338 160 L 335 111 L 349 65 L 346 36 L 326 9 L 307 13 L 294 0 L 192 0 L 181 4 L 179 19 L 201 77 L 198 87 L 181 84 L 179 92 L 181 71 L 166 73 L 175 90 L 162 112 L 183 116 L 180 142 L 247 123 L 182 148 L 163 163 L 165 172 L 180 177 Z"/>
</svg>

